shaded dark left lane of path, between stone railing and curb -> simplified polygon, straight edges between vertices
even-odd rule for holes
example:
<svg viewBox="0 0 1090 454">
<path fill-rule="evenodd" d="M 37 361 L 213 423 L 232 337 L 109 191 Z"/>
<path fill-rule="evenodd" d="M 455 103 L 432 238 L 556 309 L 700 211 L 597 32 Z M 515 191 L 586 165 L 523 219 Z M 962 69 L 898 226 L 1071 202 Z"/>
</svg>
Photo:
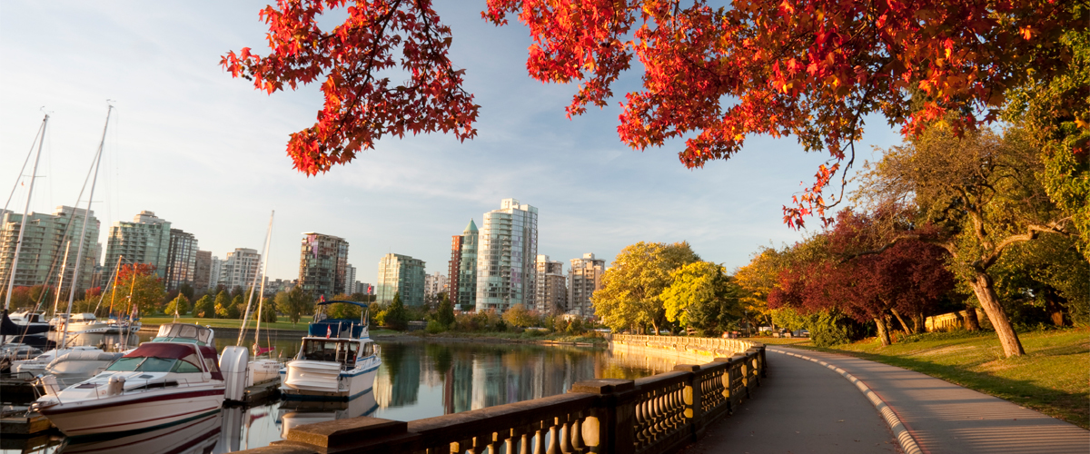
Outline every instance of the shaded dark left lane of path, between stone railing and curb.
<svg viewBox="0 0 1090 454">
<path fill-rule="evenodd" d="M 707 453 L 896 453 L 874 405 L 839 373 L 767 353 L 768 377 L 752 400 L 686 450 Z"/>
</svg>

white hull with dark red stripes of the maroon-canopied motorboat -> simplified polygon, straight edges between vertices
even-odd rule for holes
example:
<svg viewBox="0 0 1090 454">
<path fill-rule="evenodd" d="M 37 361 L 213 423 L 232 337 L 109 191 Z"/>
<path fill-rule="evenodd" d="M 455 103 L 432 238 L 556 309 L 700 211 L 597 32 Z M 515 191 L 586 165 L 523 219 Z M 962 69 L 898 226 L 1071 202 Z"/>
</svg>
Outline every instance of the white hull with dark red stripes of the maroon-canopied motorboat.
<svg viewBox="0 0 1090 454">
<path fill-rule="evenodd" d="M 38 412 L 64 432 L 80 437 L 153 430 L 190 421 L 223 404 L 223 388 L 166 389 L 41 406 Z"/>
</svg>

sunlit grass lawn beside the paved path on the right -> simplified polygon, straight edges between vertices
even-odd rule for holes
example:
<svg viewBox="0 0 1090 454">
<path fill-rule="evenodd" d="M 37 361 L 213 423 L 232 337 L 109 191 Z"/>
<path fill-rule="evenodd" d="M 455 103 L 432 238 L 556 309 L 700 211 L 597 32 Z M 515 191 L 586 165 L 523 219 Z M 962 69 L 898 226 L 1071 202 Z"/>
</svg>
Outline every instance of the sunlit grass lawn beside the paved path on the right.
<svg viewBox="0 0 1090 454">
<path fill-rule="evenodd" d="M 1090 429 L 1090 329 L 1018 333 L 1026 356 L 1005 358 L 993 332 L 927 333 L 883 347 L 877 339 L 834 348 L 903 367 Z"/>
</svg>

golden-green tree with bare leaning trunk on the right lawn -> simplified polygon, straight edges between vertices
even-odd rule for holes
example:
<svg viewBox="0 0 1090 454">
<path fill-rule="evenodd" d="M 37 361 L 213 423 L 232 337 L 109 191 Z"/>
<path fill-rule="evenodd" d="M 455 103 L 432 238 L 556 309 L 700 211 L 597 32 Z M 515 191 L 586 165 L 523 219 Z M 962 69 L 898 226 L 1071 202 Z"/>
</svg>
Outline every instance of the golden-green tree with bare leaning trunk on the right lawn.
<svg viewBox="0 0 1090 454">
<path fill-rule="evenodd" d="M 1017 125 L 962 137 L 943 126 L 893 147 L 870 168 L 864 199 L 879 207 L 910 201 L 920 229 L 898 234 L 949 251 L 952 271 L 972 289 L 1006 356 L 1025 354 L 1009 316 L 995 293 L 991 268 L 1018 243 L 1041 235 L 1070 234 L 1071 217 L 1057 209 L 1038 180 L 1044 171 L 1039 149 Z"/>
</svg>

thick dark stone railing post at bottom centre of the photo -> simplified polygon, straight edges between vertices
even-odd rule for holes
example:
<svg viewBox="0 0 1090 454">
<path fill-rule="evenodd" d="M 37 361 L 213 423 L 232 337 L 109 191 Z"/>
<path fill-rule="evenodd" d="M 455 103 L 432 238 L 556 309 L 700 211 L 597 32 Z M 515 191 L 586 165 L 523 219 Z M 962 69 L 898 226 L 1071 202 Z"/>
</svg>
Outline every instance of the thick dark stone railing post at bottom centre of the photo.
<svg viewBox="0 0 1090 454">
<path fill-rule="evenodd" d="M 598 379 L 576 382 L 569 393 L 601 396 L 580 425 L 582 441 L 592 453 L 635 452 L 635 397 L 632 380 Z"/>
</svg>

